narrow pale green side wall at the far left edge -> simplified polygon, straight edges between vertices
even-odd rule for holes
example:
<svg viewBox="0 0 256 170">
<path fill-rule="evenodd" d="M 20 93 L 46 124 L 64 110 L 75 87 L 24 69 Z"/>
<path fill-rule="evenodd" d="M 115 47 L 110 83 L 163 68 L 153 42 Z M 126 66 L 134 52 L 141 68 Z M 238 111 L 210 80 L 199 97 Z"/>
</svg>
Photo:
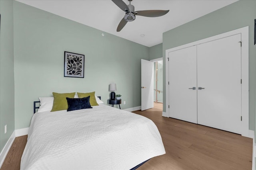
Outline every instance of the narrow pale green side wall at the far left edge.
<svg viewBox="0 0 256 170">
<path fill-rule="evenodd" d="M 14 131 L 13 2 L 0 0 L 0 152 Z M 4 134 L 4 125 L 7 133 Z"/>
</svg>

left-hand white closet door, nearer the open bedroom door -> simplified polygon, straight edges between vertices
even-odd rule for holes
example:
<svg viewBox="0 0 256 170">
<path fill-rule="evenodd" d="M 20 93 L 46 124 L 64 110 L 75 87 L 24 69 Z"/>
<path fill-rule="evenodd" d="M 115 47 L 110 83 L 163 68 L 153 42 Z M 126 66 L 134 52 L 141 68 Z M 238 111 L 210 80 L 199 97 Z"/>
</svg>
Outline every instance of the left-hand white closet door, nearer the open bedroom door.
<svg viewBox="0 0 256 170">
<path fill-rule="evenodd" d="M 168 57 L 169 117 L 197 123 L 196 46 L 172 51 Z"/>
</svg>

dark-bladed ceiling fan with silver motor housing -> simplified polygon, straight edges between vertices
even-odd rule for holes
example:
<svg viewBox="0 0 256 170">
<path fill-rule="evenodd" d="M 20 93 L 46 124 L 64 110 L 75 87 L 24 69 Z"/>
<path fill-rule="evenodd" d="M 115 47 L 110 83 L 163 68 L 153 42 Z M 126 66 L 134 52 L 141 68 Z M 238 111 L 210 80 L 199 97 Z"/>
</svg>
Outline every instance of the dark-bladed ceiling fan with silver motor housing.
<svg viewBox="0 0 256 170">
<path fill-rule="evenodd" d="M 123 29 L 128 21 L 134 21 L 135 16 L 145 16 L 145 17 L 159 17 L 167 14 L 169 10 L 144 10 L 144 11 L 135 11 L 134 6 L 131 5 L 132 0 L 128 0 L 130 2 L 129 5 L 126 5 L 122 0 L 112 0 L 121 10 L 125 12 L 124 18 L 120 21 L 117 26 L 116 31 L 119 32 Z"/>
</svg>

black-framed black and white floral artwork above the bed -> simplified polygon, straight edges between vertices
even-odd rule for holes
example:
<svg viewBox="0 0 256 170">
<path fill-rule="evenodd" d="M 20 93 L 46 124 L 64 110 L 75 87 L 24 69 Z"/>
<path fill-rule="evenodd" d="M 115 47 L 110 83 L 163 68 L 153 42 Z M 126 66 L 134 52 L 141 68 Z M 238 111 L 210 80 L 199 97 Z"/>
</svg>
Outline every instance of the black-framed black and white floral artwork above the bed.
<svg viewBox="0 0 256 170">
<path fill-rule="evenodd" d="M 64 77 L 84 78 L 84 55 L 64 52 Z"/>
</svg>

